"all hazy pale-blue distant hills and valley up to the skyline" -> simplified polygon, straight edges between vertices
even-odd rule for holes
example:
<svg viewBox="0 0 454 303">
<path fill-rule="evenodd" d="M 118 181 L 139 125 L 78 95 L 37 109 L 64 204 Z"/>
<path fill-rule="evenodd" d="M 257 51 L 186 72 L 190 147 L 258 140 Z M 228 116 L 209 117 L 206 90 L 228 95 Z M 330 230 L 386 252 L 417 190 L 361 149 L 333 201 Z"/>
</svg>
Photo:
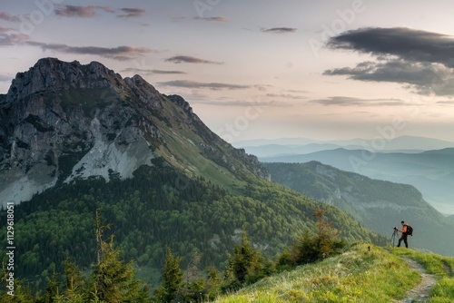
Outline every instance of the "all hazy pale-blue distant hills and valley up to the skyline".
<svg viewBox="0 0 454 303">
<path fill-rule="evenodd" d="M 405 136 L 386 141 L 384 148 L 374 150 L 366 140 L 321 143 L 288 139 L 287 142 L 295 143 L 293 145 L 282 141 L 267 145 L 260 141 L 239 142 L 236 146 L 242 146 L 246 152 L 255 152 L 263 162 L 321 161 L 372 179 L 410 184 L 440 212 L 447 215 L 454 212 L 451 190 L 454 184 L 453 142 Z M 250 143 L 261 145 L 245 146 Z"/>
</svg>

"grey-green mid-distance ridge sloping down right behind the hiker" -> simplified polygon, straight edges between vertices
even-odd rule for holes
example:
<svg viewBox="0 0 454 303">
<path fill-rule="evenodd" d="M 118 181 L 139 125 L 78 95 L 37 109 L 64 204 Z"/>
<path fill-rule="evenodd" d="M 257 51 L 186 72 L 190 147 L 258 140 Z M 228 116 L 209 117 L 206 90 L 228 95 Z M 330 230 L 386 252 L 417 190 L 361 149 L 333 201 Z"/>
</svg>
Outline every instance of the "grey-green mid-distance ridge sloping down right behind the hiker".
<svg viewBox="0 0 454 303">
<path fill-rule="evenodd" d="M 406 220 L 415 228 L 410 247 L 453 255 L 452 221 L 422 199 L 407 184 L 373 180 L 341 171 L 321 162 L 264 163 L 271 180 L 346 211 L 371 230 L 390 237 L 394 226 Z M 448 237 L 441 239 L 440 236 Z"/>
</svg>

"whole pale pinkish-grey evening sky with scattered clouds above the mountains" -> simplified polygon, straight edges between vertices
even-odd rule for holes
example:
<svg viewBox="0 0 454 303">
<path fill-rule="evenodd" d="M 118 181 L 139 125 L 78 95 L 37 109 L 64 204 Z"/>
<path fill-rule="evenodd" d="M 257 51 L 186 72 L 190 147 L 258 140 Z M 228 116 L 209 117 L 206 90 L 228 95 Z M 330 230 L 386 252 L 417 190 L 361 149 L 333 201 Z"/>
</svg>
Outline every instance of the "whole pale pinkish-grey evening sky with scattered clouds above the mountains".
<svg viewBox="0 0 454 303">
<path fill-rule="evenodd" d="M 180 94 L 227 142 L 454 142 L 452 1 L 0 0 L 0 93 L 40 58 Z"/>
</svg>

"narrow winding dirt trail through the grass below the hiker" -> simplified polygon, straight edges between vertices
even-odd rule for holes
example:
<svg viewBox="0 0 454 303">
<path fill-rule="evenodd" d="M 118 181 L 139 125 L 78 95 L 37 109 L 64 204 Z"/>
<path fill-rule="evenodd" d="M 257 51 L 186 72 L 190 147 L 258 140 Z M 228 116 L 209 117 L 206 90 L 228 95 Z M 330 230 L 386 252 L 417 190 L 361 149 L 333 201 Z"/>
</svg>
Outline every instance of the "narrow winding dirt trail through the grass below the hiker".
<svg viewBox="0 0 454 303">
<path fill-rule="evenodd" d="M 401 303 L 413 303 L 413 302 L 428 302 L 430 290 L 432 290 L 435 283 L 437 283 L 437 279 L 434 275 L 430 275 L 427 273 L 426 269 L 424 269 L 417 261 L 403 258 L 408 264 L 410 269 L 416 269 L 420 272 L 422 280 L 421 282 L 415 287 L 407 291 L 405 294 L 405 298 L 401 299 Z"/>
</svg>

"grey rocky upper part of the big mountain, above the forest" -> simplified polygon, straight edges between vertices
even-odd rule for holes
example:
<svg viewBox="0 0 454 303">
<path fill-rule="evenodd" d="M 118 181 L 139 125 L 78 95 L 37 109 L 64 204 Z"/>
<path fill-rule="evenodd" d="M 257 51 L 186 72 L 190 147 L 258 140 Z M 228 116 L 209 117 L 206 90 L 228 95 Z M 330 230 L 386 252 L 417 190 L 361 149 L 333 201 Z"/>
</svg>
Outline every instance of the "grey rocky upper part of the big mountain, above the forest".
<svg viewBox="0 0 454 303">
<path fill-rule="evenodd" d="M 155 158 L 217 183 L 268 178 L 254 156 L 211 132 L 182 97 L 159 93 L 139 75 L 44 58 L 0 95 L 4 204 L 76 178 L 131 178 Z"/>
</svg>

